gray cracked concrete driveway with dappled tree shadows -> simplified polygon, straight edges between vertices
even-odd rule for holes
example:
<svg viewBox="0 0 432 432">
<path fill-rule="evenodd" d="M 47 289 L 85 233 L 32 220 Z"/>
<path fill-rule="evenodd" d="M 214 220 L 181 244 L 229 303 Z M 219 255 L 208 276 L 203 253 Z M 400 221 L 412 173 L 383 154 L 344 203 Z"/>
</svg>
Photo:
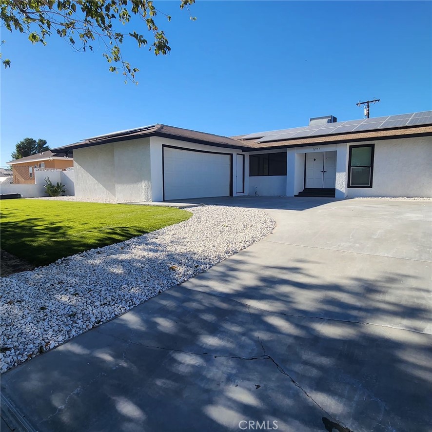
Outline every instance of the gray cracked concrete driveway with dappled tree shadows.
<svg viewBox="0 0 432 432">
<path fill-rule="evenodd" d="M 205 202 L 268 209 L 277 226 L 5 373 L 6 421 L 39 431 L 431 431 L 432 202 Z"/>
</svg>

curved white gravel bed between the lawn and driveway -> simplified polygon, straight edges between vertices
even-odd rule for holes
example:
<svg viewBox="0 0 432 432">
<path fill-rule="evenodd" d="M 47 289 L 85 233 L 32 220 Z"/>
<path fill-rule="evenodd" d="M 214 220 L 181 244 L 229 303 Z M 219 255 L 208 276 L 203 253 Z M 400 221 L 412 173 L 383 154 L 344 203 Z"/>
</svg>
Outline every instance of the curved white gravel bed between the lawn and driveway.
<svg viewBox="0 0 432 432">
<path fill-rule="evenodd" d="M 256 209 L 201 206 L 144 236 L 1 278 L 0 371 L 53 349 L 270 234 Z"/>
</svg>

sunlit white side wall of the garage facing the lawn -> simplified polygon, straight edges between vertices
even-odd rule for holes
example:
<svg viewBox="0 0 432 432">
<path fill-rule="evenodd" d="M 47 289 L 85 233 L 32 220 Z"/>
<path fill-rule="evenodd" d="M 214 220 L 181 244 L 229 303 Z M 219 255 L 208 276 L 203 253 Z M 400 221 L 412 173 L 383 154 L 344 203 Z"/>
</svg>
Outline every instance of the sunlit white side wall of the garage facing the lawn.
<svg viewBox="0 0 432 432">
<path fill-rule="evenodd" d="M 149 138 L 74 150 L 75 195 L 151 201 Z"/>
</svg>

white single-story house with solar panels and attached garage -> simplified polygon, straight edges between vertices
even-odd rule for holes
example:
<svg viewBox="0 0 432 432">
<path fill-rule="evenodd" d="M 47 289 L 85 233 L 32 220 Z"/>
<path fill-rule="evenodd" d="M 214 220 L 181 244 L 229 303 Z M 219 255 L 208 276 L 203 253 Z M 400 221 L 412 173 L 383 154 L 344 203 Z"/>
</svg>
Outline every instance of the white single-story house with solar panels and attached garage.
<svg viewBox="0 0 432 432">
<path fill-rule="evenodd" d="M 231 138 L 155 124 L 55 149 L 72 150 L 78 197 L 432 196 L 432 111 Z"/>
</svg>

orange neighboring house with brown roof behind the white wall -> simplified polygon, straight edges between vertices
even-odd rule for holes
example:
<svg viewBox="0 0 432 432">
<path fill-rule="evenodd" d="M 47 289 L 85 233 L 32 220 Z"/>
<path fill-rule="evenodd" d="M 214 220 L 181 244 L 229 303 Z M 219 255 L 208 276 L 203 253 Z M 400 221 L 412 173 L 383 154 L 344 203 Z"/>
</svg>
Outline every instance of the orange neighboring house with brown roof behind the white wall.
<svg viewBox="0 0 432 432">
<path fill-rule="evenodd" d="M 50 150 L 37 155 L 21 157 L 20 159 L 6 162 L 12 167 L 14 184 L 33 184 L 35 182 L 36 168 L 65 169 L 74 166 L 72 152 L 52 152 Z"/>
</svg>

